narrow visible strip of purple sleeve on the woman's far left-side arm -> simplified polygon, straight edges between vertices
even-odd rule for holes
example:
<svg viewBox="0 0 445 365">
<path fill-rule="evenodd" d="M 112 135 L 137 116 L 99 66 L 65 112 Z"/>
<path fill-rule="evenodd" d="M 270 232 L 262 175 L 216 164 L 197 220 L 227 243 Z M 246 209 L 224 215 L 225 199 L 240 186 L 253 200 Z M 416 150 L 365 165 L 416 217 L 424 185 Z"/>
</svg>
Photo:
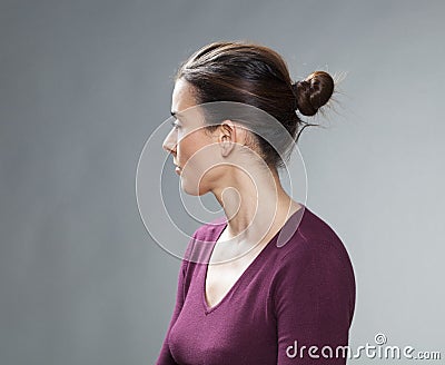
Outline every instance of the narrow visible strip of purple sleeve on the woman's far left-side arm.
<svg viewBox="0 0 445 365">
<path fill-rule="evenodd" d="M 188 267 L 188 263 L 189 263 L 187 258 L 189 257 L 189 254 L 190 254 L 190 250 L 191 250 L 191 247 L 194 244 L 195 235 L 196 235 L 196 233 L 194 234 L 191 240 L 189 241 L 189 245 L 186 249 L 185 258 L 182 258 L 182 262 L 180 265 L 180 269 L 179 269 L 179 274 L 178 274 L 178 288 L 177 288 L 177 293 L 176 293 L 176 303 L 175 303 L 171 319 L 168 325 L 167 333 L 164 338 L 164 343 L 162 343 L 158 359 L 156 362 L 156 365 L 177 365 L 177 363 L 175 362 L 174 357 L 171 356 L 170 349 L 168 347 L 168 336 L 170 334 L 171 327 L 175 325 L 176 319 L 179 316 L 179 313 L 182 309 L 184 300 L 186 297 L 185 284 L 186 284 L 187 267 Z"/>
</svg>

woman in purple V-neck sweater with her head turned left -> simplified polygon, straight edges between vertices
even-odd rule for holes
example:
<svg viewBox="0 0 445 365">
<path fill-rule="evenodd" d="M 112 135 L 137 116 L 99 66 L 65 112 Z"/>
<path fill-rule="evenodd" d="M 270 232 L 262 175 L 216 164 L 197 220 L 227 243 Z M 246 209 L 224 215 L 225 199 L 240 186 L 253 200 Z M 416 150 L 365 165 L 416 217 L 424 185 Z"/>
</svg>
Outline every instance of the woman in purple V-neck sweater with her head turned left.
<svg viewBox="0 0 445 365">
<path fill-rule="evenodd" d="M 309 125 L 298 114 L 314 116 L 333 91 L 324 71 L 293 82 L 281 57 L 255 43 L 214 42 L 181 65 L 162 147 L 182 189 L 212 193 L 226 217 L 197 229 L 187 247 L 157 364 L 346 363 L 338 347 L 348 344 L 355 307 L 348 254 L 278 175 L 293 147 L 286 135 L 295 141 Z M 215 102 L 264 111 L 280 128 L 267 118 L 210 125 L 202 108 Z"/>
</svg>

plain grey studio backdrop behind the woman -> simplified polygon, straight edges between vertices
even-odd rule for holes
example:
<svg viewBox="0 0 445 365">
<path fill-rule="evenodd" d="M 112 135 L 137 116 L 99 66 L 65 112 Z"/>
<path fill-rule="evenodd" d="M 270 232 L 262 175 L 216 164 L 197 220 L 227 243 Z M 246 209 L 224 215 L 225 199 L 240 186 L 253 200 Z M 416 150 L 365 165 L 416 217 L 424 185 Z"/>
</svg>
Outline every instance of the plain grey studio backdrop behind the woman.
<svg viewBox="0 0 445 365">
<path fill-rule="evenodd" d="M 382 332 L 389 345 L 445 357 L 444 10 L 1 0 L 0 363 L 155 362 L 179 260 L 139 217 L 138 157 L 169 116 L 179 62 L 238 39 L 276 49 L 294 79 L 347 72 L 336 112 L 320 119 L 328 128 L 307 128 L 299 146 L 306 204 L 355 267 L 352 345 Z M 177 190 L 174 172 L 167 184 Z"/>
</svg>

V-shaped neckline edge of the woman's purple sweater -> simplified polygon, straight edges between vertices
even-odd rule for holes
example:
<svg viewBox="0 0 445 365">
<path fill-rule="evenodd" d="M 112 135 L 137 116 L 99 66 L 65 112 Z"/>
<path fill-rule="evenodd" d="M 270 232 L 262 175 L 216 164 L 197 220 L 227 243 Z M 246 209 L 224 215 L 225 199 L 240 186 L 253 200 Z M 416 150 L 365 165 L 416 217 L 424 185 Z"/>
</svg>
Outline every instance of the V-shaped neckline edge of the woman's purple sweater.
<svg viewBox="0 0 445 365">
<path fill-rule="evenodd" d="M 299 204 L 301 207 L 300 207 L 298 210 L 294 211 L 294 213 L 290 215 L 289 218 L 287 218 L 287 220 L 286 220 L 286 223 L 283 225 L 283 227 L 281 227 L 280 229 L 278 229 L 278 231 L 274 235 L 274 237 L 270 238 L 270 240 L 261 248 L 261 250 L 259 251 L 259 254 L 254 258 L 254 260 L 247 266 L 247 268 L 243 272 L 243 274 L 237 278 L 237 280 L 236 280 L 236 282 L 234 283 L 234 285 L 230 287 L 230 289 L 222 296 L 222 298 L 221 298 L 217 304 L 215 304 L 214 306 L 209 306 L 208 303 L 207 303 L 207 299 L 206 299 L 206 293 L 207 293 L 207 290 L 206 290 L 206 283 L 207 283 L 208 266 L 209 266 L 210 258 L 211 258 L 211 254 L 212 254 L 212 251 L 214 251 L 214 249 L 215 249 L 215 246 L 216 246 L 216 244 L 217 244 L 219 237 L 222 235 L 222 231 L 226 229 L 226 227 L 227 227 L 227 225 L 228 225 L 228 224 L 227 224 L 227 219 L 226 219 L 226 221 L 225 221 L 224 224 L 220 225 L 219 231 L 217 233 L 216 238 L 215 238 L 215 240 L 212 241 L 212 246 L 211 246 L 211 248 L 210 248 L 210 254 L 209 254 L 209 256 L 208 256 L 208 263 L 204 265 L 204 279 L 202 279 L 202 287 L 201 287 L 201 302 L 202 302 L 204 312 L 205 312 L 206 315 L 209 314 L 209 313 L 211 313 L 211 312 L 214 312 L 215 309 L 217 309 L 222 303 L 225 303 L 225 302 L 228 299 L 228 297 L 231 295 L 233 292 L 235 292 L 236 287 L 237 287 L 237 286 L 239 285 L 239 283 L 244 279 L 244 277 L 248 275 L 248 273 L 253 269 L 253 267 L 256 266 L 257 263 L 260 260 L 260 257 L 261 257 L 263 255 L 265 255 L 266 249 L 274 246 L 273 243 L 277 240 L 277 238 L 278 238 L 280 231 L 283 230 L 283 228 L 286 227 L 287 224 L 288 224 L 289 221 L 291 221 L 293 218 L 294 218 L 297 214 L 301 214 L 301 211 L 303 211 L 303 214 L 304 214 L 304 210 L 307 209 L 307 207 L 306 207 L 305 205 L 303 205 L 301 203 L 298 203 L 298 204 Z"/>
</svg>

